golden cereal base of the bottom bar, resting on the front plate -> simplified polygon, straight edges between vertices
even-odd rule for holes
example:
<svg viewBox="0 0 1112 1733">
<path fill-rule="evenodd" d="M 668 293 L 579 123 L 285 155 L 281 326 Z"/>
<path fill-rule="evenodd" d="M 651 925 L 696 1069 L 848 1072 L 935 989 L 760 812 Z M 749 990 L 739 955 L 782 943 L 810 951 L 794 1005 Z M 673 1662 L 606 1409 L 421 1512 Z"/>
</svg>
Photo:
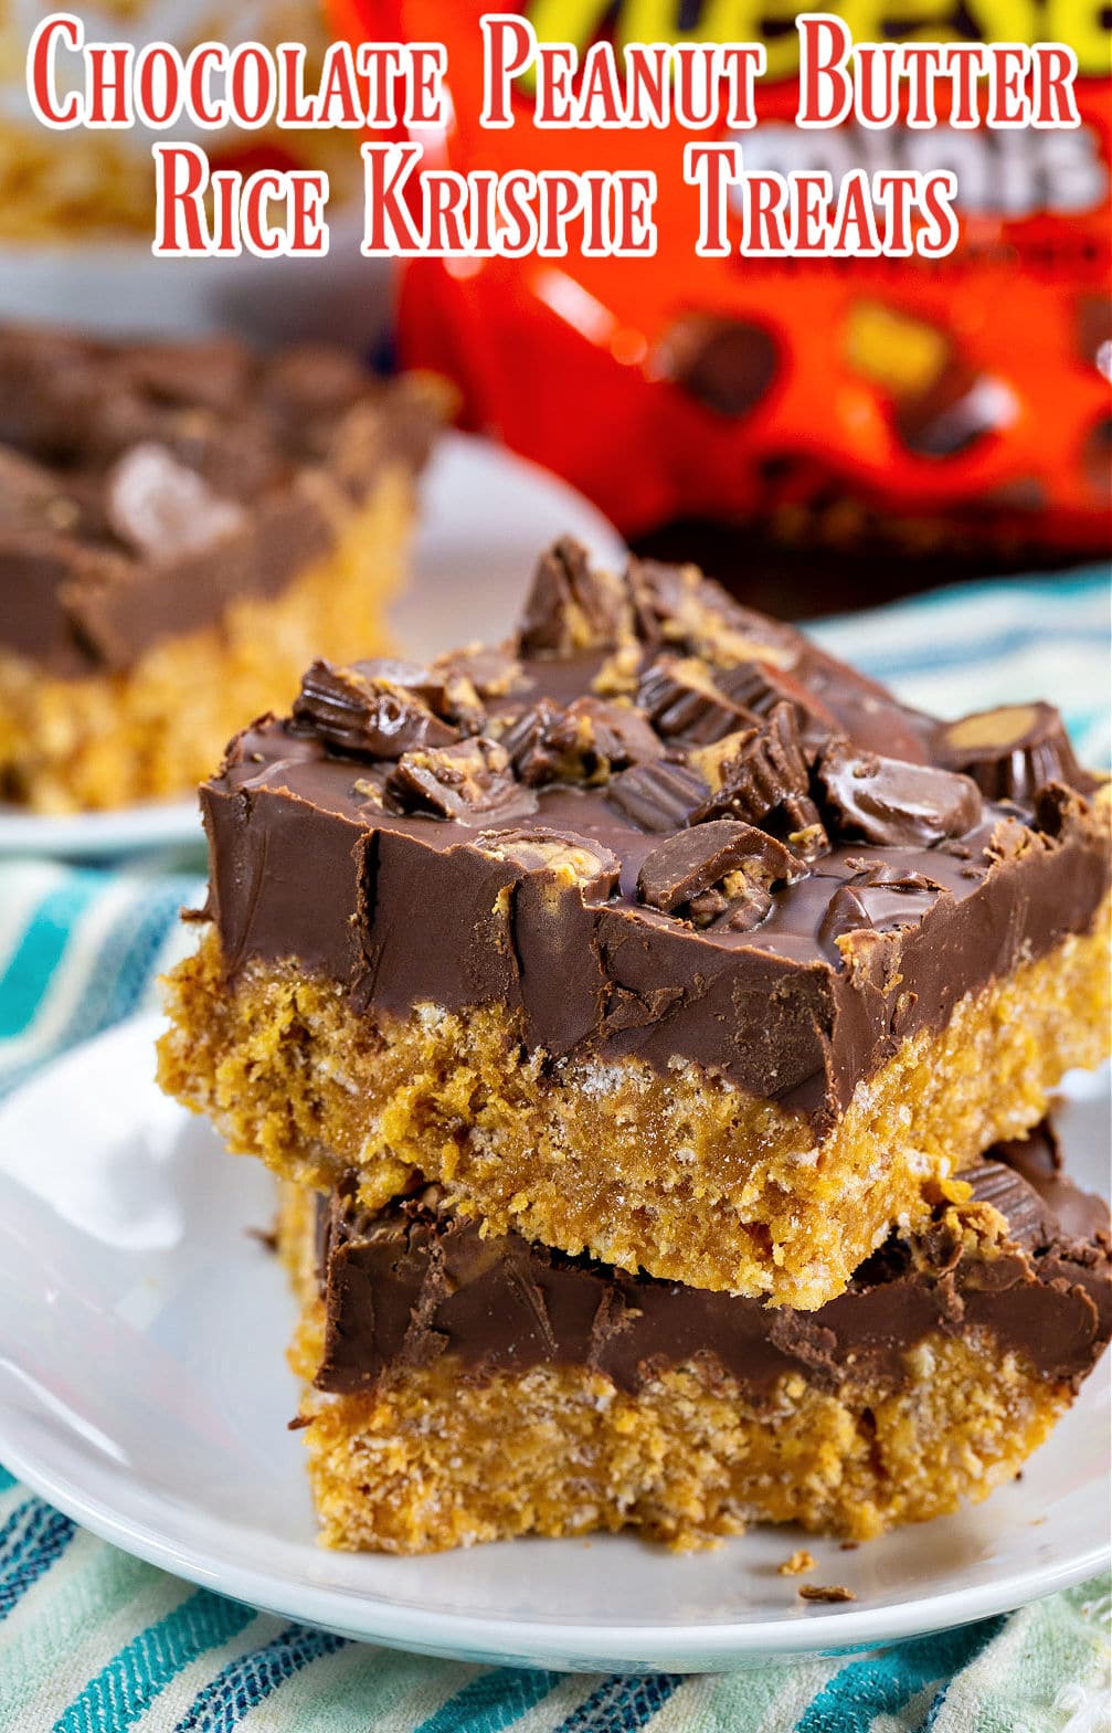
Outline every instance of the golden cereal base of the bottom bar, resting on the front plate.
<svg viewBox="0 0 1112 1733">
<path fill-rule="evenodd" d="M 984 1499 L 1070 1402 L 989 1334 L 927 1338 L 901 1390 L 790 1376 L 760 1409 L 695 1362 L 629 1395 L 587 1367 L 476 1379 L 445 1355 L 369 1395 L 324 1395 L 308 1383 L 320 1341 L 314 1296 L 289 1359 L 320 1539 L 352 1551 L 598 1529 L 689 1549 L 750 1522 L 864 1541 Z"/>
</svg>

